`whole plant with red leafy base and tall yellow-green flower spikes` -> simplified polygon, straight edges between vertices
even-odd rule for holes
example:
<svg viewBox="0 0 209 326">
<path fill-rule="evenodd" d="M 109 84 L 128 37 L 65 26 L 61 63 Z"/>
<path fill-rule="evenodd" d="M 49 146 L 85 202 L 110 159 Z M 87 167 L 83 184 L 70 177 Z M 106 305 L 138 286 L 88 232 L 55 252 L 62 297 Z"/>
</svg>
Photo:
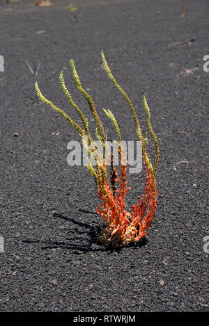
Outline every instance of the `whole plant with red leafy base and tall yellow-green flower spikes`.
<svg viewBox="0 0 209 326">
<path fill-rule="evenodd" d="M 88 161 L 88 165 L 86 165 L 86 167 L 88 168 L 88 171 L 95 179 L 95 183 L 98 188 L 98 195 L 102 201 L 101 204 L 98 206 L 98 210 L 97 210 L 98 214 L 103 218 L 100 241 L 107 245 L 111 243 L 111 245 L 113 245 L 114 247 L 123 247 L 128 243 L 139 241 L 139 239 L 141 239 L 146 235 L 146 230 L 148 229 L 148 227 L 152 225 L 153 218 L 155 215 L 155 209 L 157 207 L 156 174 L 157 174 L 157 164 L 159 159 L 159 146 L 153 128 L 150 124 L 150 111 L 148 108 L 146 98 L 144 97 L 146 122 L 148 125 L 150 136 L 153 138 L 155 143 L 155 165 L 153 167 L 146 148 L 148 145 L 148 138 L 146 136 L 147 133 L 144 137 L 141 131 L 141 126 L 139 124 L 137 114 L 135 113 L 134 107 L 132 106 L 132 102 L 130 101 L 130 98 L 127 96 L 124 90 L 121 88 L 121 86 L 118 85 L 116 79 L 114 79 L 114 76 L 112 75 L 111 70 L 107 65 L 107 61 L 104 58 L 103 51 L 102 51 L 102 63 L 104 66 L 104 70 L 107 72 L 107 75 L 109 76 L 111 81 L 113 81 L 116 88 L 118 88 L 118 90 L 121 92 L 121 94 L 127 101 L 128 106 L 130 107 L 130 111 L 132 112 L 132 115 L 134 117 L 134 122 L 137 127 L 137 136 L 141 141 L 142 156 L 144 158 L 144 165 L 146 167 L 146 186 L 144 190 L 145 193 L 144 195 L 139 197 L 138 203 L 132 206 L 132 212 L 130 213 L 126 210 L 126 204 L 125 204 L 125 197 L 127 195 L 127 192 L 130 190 L 130 188 L 127 187 L 128 162 L 126 157 L 124 157 L 123 155 L 123 148 L 121 145 L 121 131 L 118 127 L 118 123 L 116 122 L 116 118 L 114 117 L 113 113 L 111 113 L 111 111 L 109 110 L 108 111 L 104 110 L 104 113 L 106 113 L 106 115 L 113 122 L 116 133 L 118 134 L 117 144 L 118 144 L 118 157 L 120 161 L 119 169 L 117 170 L 116 166 L 114 166 L 113 163 L 114 159 L 112 153 L 111 153 L 111 167 L 109 173 L 108 173 L 107 163 L 105 161 L 105 158 L 101 162 L 98 159 L 98 155 L 94 156 L 95 163 L 96 163 L 95 168 L 93 168 L 90 161 Z M 98 116 L 98 113 L 95 109 L 93 99 L 91 98 L 91 95 L 89 95 L 88 92 L 86 92 L 86 90 L 82 88 L 82 84 L 79 80 L 77 71 L 75 70 L 75 65 L 73 60 L 70 60 L 70 65 L 72 67 L 72 74 L 75 79 L 77 88 L 88 101 L 88 105 L 91 108 L 91 113 L 93 114 L 95 124 L 97 125 L 95 136 L 98 138 L 98 140 L 103 146 L 103 149 L 105 150 L 107 136 L 104 132 L 102 123 L 100 121 L 100 117 Z M 83 128 L 80 127 L 79 124 L 77 124 L 75 121 L 73 121 L 60 108 L 55 106 L 52 103 L 52 101 L 46 99 L 40 92 L 40 89 L 38 88 L 38 84 L 36 82 L 35 87 L 36 87 L 37 95 L 45 104 L 48 104 L 49 106 L 51 106 L 52 109 L 61 113 L 61 115 L 63 115 L 63 117 L 65 117 L 65 119 L 68 120 L 68 122 L 70 122 L 72 127 L 75 127 L 75 129 L 77 129 L 79 135 L 82 137 L 82 142 L 84 147 L 88 147 L 86 146 L 84 138 L 88 137 L 88 145 L 93 144 L 93 138 L 91 137 L 91 134 L 89 133 L 89 129 L 88 129 L 88 120 L 86 117 L 84 117 L 82 111 L 79 109 L 77 104 L 75 104 L 75 102 L 72 100 L 70 92 L 68 92 L 68 89 L 65 86 L 65 82 L 63 79 L 63 72 L 61 72 L 60 74 L 60 84 L 63 92 L 68 98 L 69 103 L 72 105 L 72 107 L 75 108 L 75 110 L 79 114 L 82 120 Z M 98 130 L 100 134 L 98 133 Z M 95 149 L 98 149 L 98 147 L 91 147 L 91 149 L 90 147 L 87 148 L 88 153 L 90 155 L 93 154 Z M 119 183 L 118 187 L 116 186 L 117 182 Z"/>
</svg>

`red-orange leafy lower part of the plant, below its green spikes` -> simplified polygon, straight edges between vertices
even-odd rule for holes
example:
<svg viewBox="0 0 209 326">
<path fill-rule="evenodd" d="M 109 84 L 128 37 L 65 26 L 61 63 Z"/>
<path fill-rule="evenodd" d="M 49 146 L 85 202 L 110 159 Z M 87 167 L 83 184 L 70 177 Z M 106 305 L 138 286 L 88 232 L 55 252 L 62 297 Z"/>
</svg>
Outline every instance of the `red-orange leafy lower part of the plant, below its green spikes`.
<svg viewBox="0 0 209 326">
<path fill-rule="evenodd" d="M 98 214 L 104 219 L 100 241 L 111 243 L 114 247 L 122 247 L 130 242 L 139 241 L 146 236 L 146 230 L 152 225 L 157 207 L 157 182 L 146 165 L 145 193 L 139 197 L 138 204 L 132 205 L 132 214 L 126 211 L 125 196 L 131 189 L 127 187 L 127 165 L 121 164 L 120 177 L 115 167 L 111 166 L 111 178 L 104 179 L 101 168 L 98 169 L 98 194 L 102 203 L 98 206 Z M 103 168 L 107 166 L 103 163 Z M 114 171 L 114 173 L 112 173 Z M 116 182 L 120 186 L 116 188 Z"/>
</svg>

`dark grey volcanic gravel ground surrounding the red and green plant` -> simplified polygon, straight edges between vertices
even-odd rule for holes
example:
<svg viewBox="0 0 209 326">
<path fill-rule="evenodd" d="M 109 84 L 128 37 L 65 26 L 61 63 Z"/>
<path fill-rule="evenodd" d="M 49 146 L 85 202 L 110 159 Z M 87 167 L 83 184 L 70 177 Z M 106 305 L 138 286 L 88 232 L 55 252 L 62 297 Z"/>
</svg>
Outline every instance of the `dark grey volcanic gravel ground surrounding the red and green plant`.
<svg viewBox="0 0 209 326">
<path fill-rule="evenodd" d="M 188 1 L 185 17 L 180 0 L 72 0 L 75 13 L 65 9 L 69 1 L 51 2 L 0 3 L 0 310 L 208 311 L 208 0 Z M 79 136 L 38 101 L 26 64 L 36 72 L 41 63 L 42 93 L 77 121 L 59 88 L 63 69 L 90 117 L 73 58 L 107 132 L 102 107 L 115 113 L 123 139 L 134 140 L 129 108 L 102 70 L 102 49 L 144 127 L 146 95 L 160 142 L 155 220 L 143 241 L 121 250 L 98 242 L 93 179 L 66 161 L 68 142 Z M 144 171 L 129 185 L 130 209 L 144 192 Z"/>
</svg>

